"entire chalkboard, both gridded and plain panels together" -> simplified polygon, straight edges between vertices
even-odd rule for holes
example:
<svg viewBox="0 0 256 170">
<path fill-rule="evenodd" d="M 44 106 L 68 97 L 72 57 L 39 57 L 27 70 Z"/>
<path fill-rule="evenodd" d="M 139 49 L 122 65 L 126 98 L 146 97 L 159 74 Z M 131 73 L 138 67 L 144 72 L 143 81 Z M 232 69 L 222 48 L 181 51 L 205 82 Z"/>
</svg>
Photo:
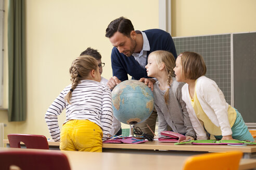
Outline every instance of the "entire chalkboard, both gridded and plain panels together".
<svg viewBox="0 0 256 170">
<path fill-rule="evenodd" d="M 194 51 L 203 56 L 206 76 L 214 80 L 226 102 L 246 123 L 256 123 L 256 33 L 173 37 L 177 54 Z"/>
</svg>

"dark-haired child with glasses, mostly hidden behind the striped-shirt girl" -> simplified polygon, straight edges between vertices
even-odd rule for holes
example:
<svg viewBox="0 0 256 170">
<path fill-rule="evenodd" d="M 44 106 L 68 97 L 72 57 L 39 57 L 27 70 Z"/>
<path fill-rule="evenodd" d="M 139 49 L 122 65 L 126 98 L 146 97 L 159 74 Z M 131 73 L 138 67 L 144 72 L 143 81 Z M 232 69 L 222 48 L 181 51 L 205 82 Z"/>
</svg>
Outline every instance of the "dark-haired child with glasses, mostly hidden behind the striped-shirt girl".
<svg viewBox="0 0 256 170">
<path fill-rule="evenodd" d="M 90 56 L 92 56 L 93 58 L 95 58 L 97 60 L 97 63 L 98 63 L 98 66 L 99 66 L 99 73 L 101 75 L 102 72 L 103 72 L 102 67 L 104 67 L 105 63 L 101 62 L 101 55 L 98 52 L 98 50 L 95 50 L 95 49 L 92 49 L 91 47 L 88 47 L 86 50 L 84 50 L 80 54 L 80 56 L 83 56 L 83 55 L 90 55 Z M 108 80 L 101 76 L 100 82 L 107 85 Z M 117 120 L 115 117 L 113 117 L 112 127 L 109 131 L 109 134 L 112 135 L 112 136 L 122 134 L 121 122 L 119 120 Z"/>
</svg>

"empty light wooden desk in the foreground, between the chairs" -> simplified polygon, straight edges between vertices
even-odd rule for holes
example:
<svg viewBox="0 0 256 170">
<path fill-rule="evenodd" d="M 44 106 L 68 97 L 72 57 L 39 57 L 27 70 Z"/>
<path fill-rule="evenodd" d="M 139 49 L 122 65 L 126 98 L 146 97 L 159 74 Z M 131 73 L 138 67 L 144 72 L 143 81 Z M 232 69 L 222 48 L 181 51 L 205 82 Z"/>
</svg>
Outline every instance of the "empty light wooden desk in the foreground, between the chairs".
<svg viewBox="0 0 256 170">
<path fill-rule="evenodd" d="M 62 152 L 69 159 L 71 169 L 182 169 L 188 156 L 152 155 L 131 153 L 96 153 L 78 151 L 57 151 L 43 149 L 0 148 L 1 150 L 37 150 L 41 152 Z M 242 159 L 239 169 L 256 168 L 256 159 Z"/>
</svg>

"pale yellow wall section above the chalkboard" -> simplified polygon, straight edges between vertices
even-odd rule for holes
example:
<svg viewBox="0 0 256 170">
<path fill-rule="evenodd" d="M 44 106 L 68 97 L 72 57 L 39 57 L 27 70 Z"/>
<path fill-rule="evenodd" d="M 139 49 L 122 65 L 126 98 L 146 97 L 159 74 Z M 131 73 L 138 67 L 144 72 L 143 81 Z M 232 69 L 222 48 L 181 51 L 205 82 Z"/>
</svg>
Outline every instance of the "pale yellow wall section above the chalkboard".
<svg viewBox="0 0 256 170">
<path fill-rule="evenodd" d="M 254 0 L 172 0 L 172 36 L 256 31 Z"/>
</svg>

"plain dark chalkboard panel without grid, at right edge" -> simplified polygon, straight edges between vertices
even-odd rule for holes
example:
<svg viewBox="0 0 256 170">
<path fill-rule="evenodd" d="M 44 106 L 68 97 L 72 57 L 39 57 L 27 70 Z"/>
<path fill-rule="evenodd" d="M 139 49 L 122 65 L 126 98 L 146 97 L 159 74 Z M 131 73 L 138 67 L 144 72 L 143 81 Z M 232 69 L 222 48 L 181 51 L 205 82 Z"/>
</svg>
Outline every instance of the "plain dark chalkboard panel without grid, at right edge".
<svg viewBox="0 0 256 170">
<path fill-rule="evenodd" d="M 234 107 L 256 122 L 256 33 L 233 34 Z"/>
</svg>

